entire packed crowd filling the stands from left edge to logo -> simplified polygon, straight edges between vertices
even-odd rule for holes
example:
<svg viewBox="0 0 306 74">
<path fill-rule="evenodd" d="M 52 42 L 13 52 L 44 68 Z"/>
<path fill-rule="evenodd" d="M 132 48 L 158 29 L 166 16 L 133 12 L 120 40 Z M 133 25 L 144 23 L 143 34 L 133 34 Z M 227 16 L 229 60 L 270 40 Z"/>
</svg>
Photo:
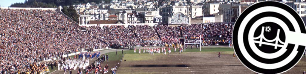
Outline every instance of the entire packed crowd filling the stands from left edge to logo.
<svg viewBox="0 0 306 74">
<path fill-rule="evenodd" d="M 179 38 L 202 40 L 203 45 L 226 45 L 231 39 L 230 23 L 166 25 L 79 26 L 59 12 L 51 10 L 0 10 L 1 73 L 42 73 L 47 59 L 81 49 L 123 48 L 176 44 Z"/>
</svg>

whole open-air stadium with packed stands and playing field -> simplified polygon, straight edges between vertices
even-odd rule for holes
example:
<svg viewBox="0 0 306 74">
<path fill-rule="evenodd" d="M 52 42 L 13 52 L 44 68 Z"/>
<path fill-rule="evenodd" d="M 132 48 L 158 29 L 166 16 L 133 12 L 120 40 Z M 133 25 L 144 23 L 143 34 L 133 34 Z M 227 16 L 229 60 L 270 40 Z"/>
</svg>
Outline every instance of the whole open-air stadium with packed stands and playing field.
<svg viewBox="0 0 306 74">
<path fill-rule="evenodd" d="M 256 74 L 233 25 L 81 25 L 57 8 L 0 8 L 0 74 Z M 304 56 L 284 74 L 303 72 Z"/>
</svg>

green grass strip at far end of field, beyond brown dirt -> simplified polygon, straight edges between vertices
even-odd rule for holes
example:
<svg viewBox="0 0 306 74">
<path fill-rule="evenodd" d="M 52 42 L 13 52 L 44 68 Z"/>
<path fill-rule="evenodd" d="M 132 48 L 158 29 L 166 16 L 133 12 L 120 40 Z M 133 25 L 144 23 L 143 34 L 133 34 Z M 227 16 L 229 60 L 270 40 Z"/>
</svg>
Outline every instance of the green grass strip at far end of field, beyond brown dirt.
<svg viewBox="0 0 306 74">
<path fill-rule="evenodd" d="M 167 49 L 166 49 L 167 50 Z M 177 49 L 178 51 L 179 49 Z M 116 52 L 109 52 L 106 53 L 109 55 L 109 60 L 114 61 L 114 62 L 119 62 L 122 59 L 122 62 L 118 68 L 118 74 L 151 74 L 151 72 L 129 72 L 130 70 L 134 70 L 131 67 L 126 67 L 125 63 L 123 60 L 127 60 L 128 62 L 139 62 L 139 61 L 146 61 L 146 60 L 161 60 L 161 59 L 166 59 L 165 55 L 161 54 L 156 54 L 154 53 L 154 56 L 146 53 L 143 53 L 143 48 L 141 48 L 141 54 L 138 54 L 139 48 L 136 48 L 136 53 L 134 53 L 134 50 L 128 50 L 124 51 L 124 58 L 122 59 L 122 51 L 118 50 L 118 53 L 116 55 Z M 168 50 L 166 51 L 168 52 Z M 178 55 L 178 52 L 174 53 L 174 48 L 171 48 L 172 54 L 170 54 L 170 58 L 173 58 L 173 55 Z M 228 47 L 207 47 L 207 48 L 202 48 L 202 51 L 199 49 L 186 49 L 186 52 L 182 52 L 181 54 L 184 55 L 190 55 L 190 52 L 197 52 L 197 53 L 213 53 L 213 52 L 222 52 L 222 54 L 233 54 L 233 49 L 230 49 Z M 106 55 L 105 54 L 105 55 Z M 121 66 L 123 65 L 123 66 Z M 158 67 L 156 67 L 158 68 Z M 161 68 L 163 69 L 163 68 Z M 135 69 L 137 70 L 137 69 Z M 157 72 L 159 73 L 159 72 Z M 153 73 L 154 74 L 154 73 Z"/>
</svg>

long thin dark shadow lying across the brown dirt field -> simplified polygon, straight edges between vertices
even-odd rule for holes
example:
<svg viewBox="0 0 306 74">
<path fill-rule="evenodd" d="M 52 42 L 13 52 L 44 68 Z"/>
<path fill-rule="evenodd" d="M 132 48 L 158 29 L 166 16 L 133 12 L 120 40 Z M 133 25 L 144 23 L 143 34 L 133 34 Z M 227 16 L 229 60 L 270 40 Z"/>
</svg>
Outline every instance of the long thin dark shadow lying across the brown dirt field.
<svg viewBox="0 0 306 74">
<path fill-rule="evenodd" d="M 132 67 L 189 67 L 189 65 L 132 65 Z"/>
</svg>

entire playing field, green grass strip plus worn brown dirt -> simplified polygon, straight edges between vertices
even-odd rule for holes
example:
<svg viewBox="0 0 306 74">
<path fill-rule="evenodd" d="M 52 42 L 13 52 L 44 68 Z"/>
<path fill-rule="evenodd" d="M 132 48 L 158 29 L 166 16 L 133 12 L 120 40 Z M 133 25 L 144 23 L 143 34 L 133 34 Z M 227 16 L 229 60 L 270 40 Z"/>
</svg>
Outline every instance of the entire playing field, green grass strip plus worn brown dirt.
<svg viewBox="0 0 306 74">
<path fill-rule="evenodd" d="M 138 54 L 139 48 L 141 48 L 140 55 Z M 202 48 L 202 51 L 186 49 L 186 52 L 181 54 L 174 53 L 174 48 L 171 48 L 172 54 L 154 53 L 154 56 L 143 53 L 143 47 L 139 48 L 136 48 L 136 53 L 134 50 L 124 51 L 123 59 L 121 49 L 118 49 L 117 55 L 116 52 L 108 52 L 106 54 L 109 55 L 109 62 L 104 62 L 103 66 L 105 64 L 109 64 L 110 67 L 117 65 L 119 67 L 117 74 L 254 74 L 237 57 L 233 59 L 234 50 L 227 46 L 206 46 Z M 218 52 L 221 52 L 221 58 L 217 58 Z M 120 65 L 117 64 L 118 62 Z M 297 74 L 304 70 L 306 70 L 306 58 L 302 58 L 285 74 Z M 111 72 L 106 74 L 111 74 Z"/>
</svg>

